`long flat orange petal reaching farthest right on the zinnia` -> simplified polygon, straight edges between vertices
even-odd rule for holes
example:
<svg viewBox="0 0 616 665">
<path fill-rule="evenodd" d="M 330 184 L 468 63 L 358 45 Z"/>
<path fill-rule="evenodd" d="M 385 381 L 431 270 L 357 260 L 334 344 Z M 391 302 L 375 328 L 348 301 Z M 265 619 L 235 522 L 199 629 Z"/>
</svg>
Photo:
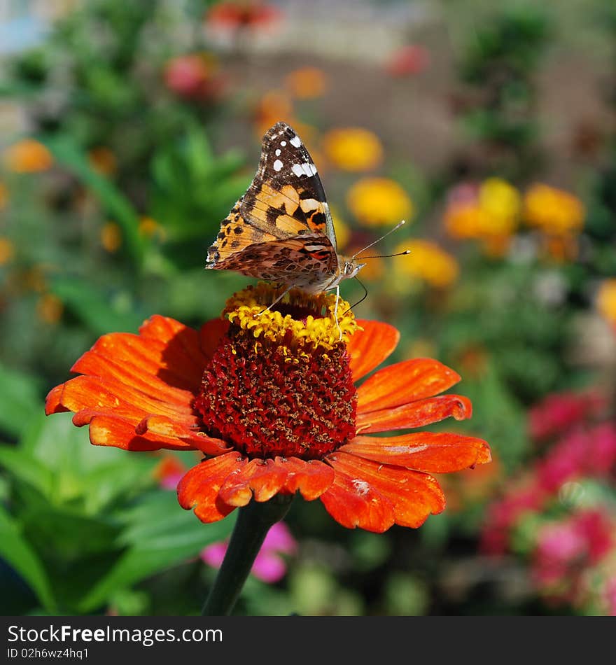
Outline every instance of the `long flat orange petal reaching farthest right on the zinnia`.
<svg viewBox="0 0 616 665">
<path fill-rule="evenodd" d="M 339 451 L 430 473 L 459 471 L 491 460 L 490 448 L 482 439 L 433 432 L 393 437 L 358 436 Z"/>
</svg>

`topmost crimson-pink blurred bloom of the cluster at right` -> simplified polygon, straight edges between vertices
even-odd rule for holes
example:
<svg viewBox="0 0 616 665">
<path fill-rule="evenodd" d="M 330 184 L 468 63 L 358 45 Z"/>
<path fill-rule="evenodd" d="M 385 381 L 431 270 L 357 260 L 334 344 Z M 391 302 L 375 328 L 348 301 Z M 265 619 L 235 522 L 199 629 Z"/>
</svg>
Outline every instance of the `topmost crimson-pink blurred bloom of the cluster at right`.
<svg viewBox="0 0 616 665">
<path fill-rule="evenodd" d="M 528 428 L 533 439 L 547 439 L 565 433 L 604 408 L 605 398 L 596 391 L 548 395 L 529 412 Z"/>
</svg>

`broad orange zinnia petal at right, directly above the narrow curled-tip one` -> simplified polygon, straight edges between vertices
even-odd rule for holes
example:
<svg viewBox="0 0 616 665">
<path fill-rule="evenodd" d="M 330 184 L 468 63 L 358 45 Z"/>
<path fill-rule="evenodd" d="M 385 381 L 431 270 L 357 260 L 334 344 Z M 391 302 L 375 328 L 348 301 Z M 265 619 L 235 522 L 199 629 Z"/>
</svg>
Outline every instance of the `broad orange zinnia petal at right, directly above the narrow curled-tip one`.
<svg viewBox="0 0 616 665">
<path fill-rule="evenodd" d="M 378 411 L 438 395 L 460 380 L 460 375 L 438 360 L 413 358 L 372 374 L 357 389 L 361 412 Z"/>
</svg>

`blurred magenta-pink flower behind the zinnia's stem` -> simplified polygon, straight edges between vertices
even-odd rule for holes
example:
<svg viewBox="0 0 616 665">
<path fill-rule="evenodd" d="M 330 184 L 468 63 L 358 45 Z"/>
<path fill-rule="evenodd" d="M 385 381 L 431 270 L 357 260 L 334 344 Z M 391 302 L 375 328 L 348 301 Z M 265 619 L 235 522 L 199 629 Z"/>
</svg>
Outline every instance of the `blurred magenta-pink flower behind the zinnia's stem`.
<svg viewBox="0 0 616 665">
<path fill-rule="evenodd" d="M 225 553 L 227 552 L 227 542 L 214 542 L 205 547 L 201 553 L 201 558 L 205 563 L 213 568 L 219 568 Z M 291 535 L 288 526 L 283 522 L 276 522 L 269 529 L 259 554 L 253 564 L 252 573 L 262 582 L 273 584 L 284 577 L 286 565 L 280 554 L 294 554 L 297 551 L 297 542 Z"/>
</svg>

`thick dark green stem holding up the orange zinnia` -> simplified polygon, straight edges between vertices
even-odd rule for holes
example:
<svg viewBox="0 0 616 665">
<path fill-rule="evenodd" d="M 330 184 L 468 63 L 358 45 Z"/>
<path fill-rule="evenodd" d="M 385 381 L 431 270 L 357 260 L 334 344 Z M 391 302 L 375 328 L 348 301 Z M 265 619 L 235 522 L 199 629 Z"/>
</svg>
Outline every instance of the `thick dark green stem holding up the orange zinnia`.
<svg viewBox="0 0 616 665">
<path fill-rule="evenodd" d="M 230 615 L 267 531 L 283 519 L 292 500 L 293 494 L 276 494 L 269 501 L 251 500 L 239 509 L 223 565 L 203 605 L 202 616 Z"/>
</svg>

